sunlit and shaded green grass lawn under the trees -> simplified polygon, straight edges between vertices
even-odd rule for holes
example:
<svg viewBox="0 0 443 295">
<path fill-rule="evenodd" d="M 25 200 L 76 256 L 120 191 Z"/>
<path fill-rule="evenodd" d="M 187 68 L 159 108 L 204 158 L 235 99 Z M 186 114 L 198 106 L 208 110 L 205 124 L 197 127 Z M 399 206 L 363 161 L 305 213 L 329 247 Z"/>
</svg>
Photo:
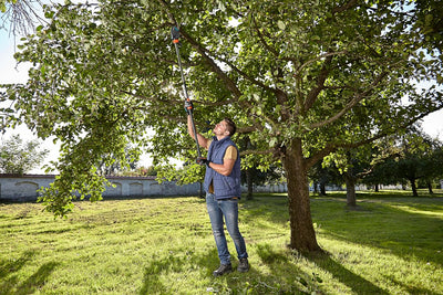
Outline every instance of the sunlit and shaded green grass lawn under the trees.
<svg viewBox="0 0 443 295">
<path fill-rule="evenodd" d="M 0 294 L 443 294 L 443 193 L 311 198 L 326 254 L 287 247 L 284 194 L 240 201 L 251 270 L 213 277 L 203 199 L 76 202 L 65 220 L 0 204 Z M 229 240 L 233 264 L 237 265 Z"/>
</svg>

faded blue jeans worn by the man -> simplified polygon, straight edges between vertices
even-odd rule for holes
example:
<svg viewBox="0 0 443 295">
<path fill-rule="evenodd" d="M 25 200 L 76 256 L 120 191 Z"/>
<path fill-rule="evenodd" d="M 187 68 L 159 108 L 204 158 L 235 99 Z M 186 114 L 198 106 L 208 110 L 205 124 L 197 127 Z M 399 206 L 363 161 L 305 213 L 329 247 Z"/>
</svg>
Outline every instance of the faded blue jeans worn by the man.
<svg viewBox="0 0 443 295">
<path fill-rule="evenodd" d="M 218 257 L 222 264 L 230 264 L 230 254 L 226 243 L 223 218 L 226 228 L 237 250 L 237 257 L 247 259 L 245 240 L 238 230 L 238 199 L 216 200 L 213 193 L 206 194 L 206 206 L 213 226 L 213 234 L 217 245 Z"/>
</svg>

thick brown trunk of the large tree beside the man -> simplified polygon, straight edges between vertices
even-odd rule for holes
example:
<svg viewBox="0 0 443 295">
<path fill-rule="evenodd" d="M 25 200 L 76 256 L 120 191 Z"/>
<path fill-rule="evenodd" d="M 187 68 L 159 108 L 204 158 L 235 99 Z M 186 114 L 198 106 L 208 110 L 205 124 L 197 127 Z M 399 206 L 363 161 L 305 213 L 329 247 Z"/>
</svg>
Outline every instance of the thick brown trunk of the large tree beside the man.
<svg viewBox="0 0 443 295">
<path fill-rule="evenodd" d="M 321 251 L 312 225 L 307 168 L 300 139 L 296 139 L 287 149 L 282 161 L 288 180 L 289 246 L 299 252 Z"/>
</svg>

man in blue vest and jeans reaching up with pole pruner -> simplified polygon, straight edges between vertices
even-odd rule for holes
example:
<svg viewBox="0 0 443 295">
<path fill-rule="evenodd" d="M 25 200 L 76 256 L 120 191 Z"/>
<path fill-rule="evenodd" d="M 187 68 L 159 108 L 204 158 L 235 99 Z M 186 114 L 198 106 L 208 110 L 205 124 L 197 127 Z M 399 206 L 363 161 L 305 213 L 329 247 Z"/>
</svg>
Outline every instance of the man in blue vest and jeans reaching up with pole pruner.
<svg viewBox="0 0 443 295">
<path fill-rule="evenodd" d="M 187 129 L 195 139 L 190 116 L 187 118 Z M 220 266 L 214 272 L 214 276 L 224 275 L 233 271 L 230 254 L 226 243 L 224 231 L 226 228 L 234 241 L 239 264 L 238 272 L 249 271 L 248 253 L 245 240 L 238 230 L 238 200 L 240 199 L 240 157 L 237 146 L 230 139 L 236 126 L 233 120 L 225 118 L 214 127 L 214 137 L 205 138 L 197 133 L 198 144 L 208 150 L 204 188 L 206 191 L 206 206 L 213 228 L 215 243 L 217 245 Z"/>
</svg>

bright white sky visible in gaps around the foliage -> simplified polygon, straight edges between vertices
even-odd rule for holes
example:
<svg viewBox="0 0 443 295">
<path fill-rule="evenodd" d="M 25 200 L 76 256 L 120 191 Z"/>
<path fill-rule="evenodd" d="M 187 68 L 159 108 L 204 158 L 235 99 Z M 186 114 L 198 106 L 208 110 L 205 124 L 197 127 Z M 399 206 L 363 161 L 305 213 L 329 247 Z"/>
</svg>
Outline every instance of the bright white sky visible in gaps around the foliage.
<svg viewBox="0 0 443 295">
<path fill-rule="evenodd" d="M 17 38 L 17 42 L 19 42 L 19 40 L 20 38 Z M 28 80 L 29 65 L 17 64 L 13 57 L 14 52 L 14 36 L 4 29 L 0 29 L 0 84 L 24 83 Z M 440 140 L 443 140 L 443 109 L 427 115 L 422 122 L 422 127 L 430 136 L 439 137 Z M 0 141 L 10 138 L 14 134 L 20 134 L 21 138 L 25 140 L 37 138 L 25 126 L 20 126 L 17 129 L 8 129 L 4 134 L 0 135 Z M 48 138 L 42 141 L 42 148 L 50 150 L 50 155 L 47 157 L 44 164 L 56 160 L 59 156 L 59 146 L 53 144 L 53 138 Z M 151 158 L 145 155 L 140 161 L 140 165 L 150 166 Z M 31 172 L 42 172 L 42 170 L 34 169 Z"/>
</svg>

